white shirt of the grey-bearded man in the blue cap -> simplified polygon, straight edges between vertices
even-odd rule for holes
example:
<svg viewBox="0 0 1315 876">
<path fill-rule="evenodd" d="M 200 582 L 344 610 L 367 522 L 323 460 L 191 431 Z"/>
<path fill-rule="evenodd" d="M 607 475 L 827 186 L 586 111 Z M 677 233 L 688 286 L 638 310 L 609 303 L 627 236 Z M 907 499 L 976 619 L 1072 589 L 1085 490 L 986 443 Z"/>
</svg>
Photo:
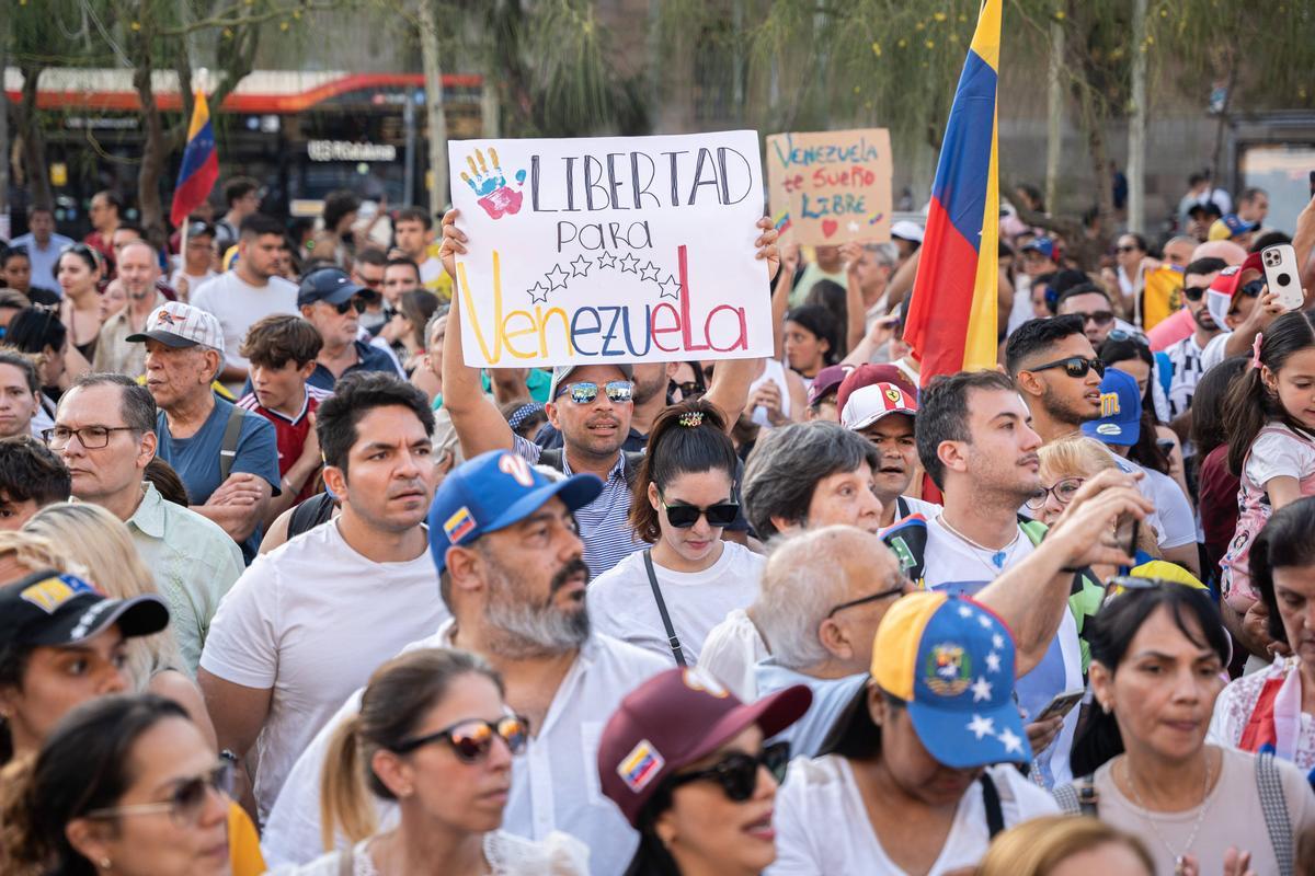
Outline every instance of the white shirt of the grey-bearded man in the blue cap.
<svg viewBox="0 0 1315 876">
<path fill-rule="evenodd" d="M 433 569 L 430 570 L 433 575 Z M 452 623 L 408 645 L 452 647 Z M 526 839 L 544 841 L 562 830 L 589 847 L 594 876 L 623 872 L 639 844 L 617 804 L 598 783 L 598 741 L 602 728 L 622 697 L 658 672 L 665 661 L 610 636 L 592 634 L 580 646 L 571 668 L 558 686 L 543 724 L 531 728 L 525 751 L 512 766 L 512 792 L 502 812 L 502 830 Z M 260 851 L 270 867 L 305 862 L 323 850 L 320 838 L 320 768 L 334 728 L 360 711 L 356 691 L 301 751 L 274 812 L 264 821 Z M 375 800 L 380 830 L 397 822 L 397 806 Z M 339 848 L 347 842 L 339 834 Z"/>
</svg>

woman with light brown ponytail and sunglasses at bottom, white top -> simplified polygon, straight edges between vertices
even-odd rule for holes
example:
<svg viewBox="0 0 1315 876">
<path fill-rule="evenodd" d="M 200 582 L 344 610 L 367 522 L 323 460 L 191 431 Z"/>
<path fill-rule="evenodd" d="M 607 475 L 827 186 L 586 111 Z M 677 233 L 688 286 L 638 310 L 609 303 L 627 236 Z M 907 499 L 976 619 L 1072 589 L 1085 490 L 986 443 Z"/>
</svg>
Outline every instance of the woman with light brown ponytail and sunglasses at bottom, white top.
<svg viewBox="0 0 1315 876">
<path fill-rule="evenodd" d="M 552 833 L 531 842 L 498 830 L 512 758 L 530 737 L 483 658 L 414 650 L 370 679 L 360 711 L 338 725 L 320 793 L 323 846 L 347 848 L 287 876 L 584 876 L 588 850 Z M 372 800 L 371 797 L 375 797 Z M 379 831 L 376 800 L 400 816 Z"/>
</svg>

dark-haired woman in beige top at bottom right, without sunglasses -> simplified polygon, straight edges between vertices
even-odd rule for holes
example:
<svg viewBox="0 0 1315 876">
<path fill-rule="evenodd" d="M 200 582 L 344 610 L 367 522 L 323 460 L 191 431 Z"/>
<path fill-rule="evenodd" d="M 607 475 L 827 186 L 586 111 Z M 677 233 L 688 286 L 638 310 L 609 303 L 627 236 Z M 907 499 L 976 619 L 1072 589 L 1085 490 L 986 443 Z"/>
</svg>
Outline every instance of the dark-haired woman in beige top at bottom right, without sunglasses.
<svg viewBox="0 0 1315 876">
<path fill-rule="evenodd" d="M 1055 789 L 1060 805 L 1140 839 L 1156 873 L 1294 872 L 1291 837 L 1315 826 L 1304 774 L 1206 743 L 1230 655 L 1210 598 L 1145 580 L 1110 599 L 1086 640 L 1095 708 L 1072 758 L 1085 777 Z"/>
</svg>

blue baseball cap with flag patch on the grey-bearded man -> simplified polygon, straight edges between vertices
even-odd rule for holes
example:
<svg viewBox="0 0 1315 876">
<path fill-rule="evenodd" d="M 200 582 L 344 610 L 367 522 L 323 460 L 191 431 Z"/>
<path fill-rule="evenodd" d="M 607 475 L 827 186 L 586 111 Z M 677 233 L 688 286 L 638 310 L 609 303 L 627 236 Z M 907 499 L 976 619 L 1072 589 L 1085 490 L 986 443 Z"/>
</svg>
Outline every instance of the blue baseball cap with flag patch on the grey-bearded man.
<svg viewBox="0 0 1315 876">
<path fill-rule="evenodd" d="M 454 469 L 429 506 L 429 553 L 439 573 L 447 566 L 447 549 L 466 545 L 487 532 L 525 520 L 559 496 L 579 511 L 602 493 L 593 474 L 573 474 L 554 481 L 512 450 L 489 450 Z"/>
</svg>

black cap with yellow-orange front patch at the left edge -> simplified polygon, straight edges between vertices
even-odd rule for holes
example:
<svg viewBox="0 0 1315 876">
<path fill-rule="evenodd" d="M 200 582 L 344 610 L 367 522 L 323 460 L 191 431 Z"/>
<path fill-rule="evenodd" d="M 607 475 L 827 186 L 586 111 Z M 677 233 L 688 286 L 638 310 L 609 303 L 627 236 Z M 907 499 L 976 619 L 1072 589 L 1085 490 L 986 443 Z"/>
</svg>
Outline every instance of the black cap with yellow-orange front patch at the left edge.
<svg viewBox="0 0 1315 876">
<path fill-rule="evenodd" d="M 110 599 L 51 569 L 0 587 L 0 645 L 76 645 L 114 624 L 125 638 L 150 636 L 168 626 L 168 608 L 154 595 Z"/>
</svg>

